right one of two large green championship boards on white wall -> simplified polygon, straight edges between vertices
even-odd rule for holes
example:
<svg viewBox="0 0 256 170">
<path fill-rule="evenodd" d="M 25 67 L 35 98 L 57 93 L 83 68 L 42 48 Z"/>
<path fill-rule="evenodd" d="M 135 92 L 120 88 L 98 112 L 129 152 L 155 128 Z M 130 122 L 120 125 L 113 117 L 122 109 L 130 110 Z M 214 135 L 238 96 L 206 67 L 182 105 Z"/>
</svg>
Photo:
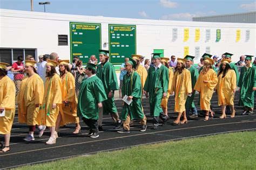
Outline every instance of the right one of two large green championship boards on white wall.
<svg viewBox="0 0 256 170">
<path fill-rule="evenodd" d="M 109 24 L 110 62 L 122 64 L 132 54 L 136 54 L 136 25 Z"/>
</svg>

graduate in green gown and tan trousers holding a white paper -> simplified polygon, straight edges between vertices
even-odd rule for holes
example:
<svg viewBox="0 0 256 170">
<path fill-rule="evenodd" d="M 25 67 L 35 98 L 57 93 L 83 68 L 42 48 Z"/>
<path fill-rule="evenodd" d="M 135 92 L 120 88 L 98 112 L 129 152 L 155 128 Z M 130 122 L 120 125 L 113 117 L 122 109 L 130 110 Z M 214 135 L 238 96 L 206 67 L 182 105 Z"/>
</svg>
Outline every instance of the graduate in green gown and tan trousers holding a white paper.
<svg viewBox="0 0 256 170">
<path fill-rule="evenodd" d="M 140 75 L 134 70 L 137 63 L 132 58 L 125 62 L 125 70 L 127 73 L 123 77 L 123 86 L 122 86 L 122 97 L 125 95 L 128 96 L 127 100 L 132 102 L 127 104 L 123 103 L 123 110 L 120 118 L 124 121 L 124 128 L 118 133 L 129 133 L 130 132 L 130 120 L 131 119 L 140 119 L 140 124 L 142 125 L 141 132 L 145 132 L 146 117 L 144 116 L 142 109 L 142 82 L 140 80 Z"/>
</svg>

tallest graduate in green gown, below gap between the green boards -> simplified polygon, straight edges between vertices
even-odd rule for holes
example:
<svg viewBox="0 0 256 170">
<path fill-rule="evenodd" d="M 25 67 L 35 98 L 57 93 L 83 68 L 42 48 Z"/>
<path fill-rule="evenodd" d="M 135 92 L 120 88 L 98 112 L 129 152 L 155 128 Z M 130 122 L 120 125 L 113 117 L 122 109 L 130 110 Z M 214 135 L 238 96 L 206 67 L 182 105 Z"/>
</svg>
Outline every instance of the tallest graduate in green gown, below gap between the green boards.
<svg viewBox="0 0 256 170">
<path fill-rule="evenodd" d="M 99 49 L 99 60 L 100 63 L 97 66 L 97 76 L 102 80 L 105 93 L 107 95 L 107 100 L 103 102 L 103 109 L 99 111 L 99 130 L 102 130 L 102 119 L 103 115 L 108 115 L 110 113 L 116 126 L 114 129 L 120 129 L 122 121 L 119 119 L 116 104 L 114 104 L 114 90 L 118 90 L 117 75 L 114 66 L 108 61 L 109 56 L 107 55 L 109 51 Z"/>
</svg>

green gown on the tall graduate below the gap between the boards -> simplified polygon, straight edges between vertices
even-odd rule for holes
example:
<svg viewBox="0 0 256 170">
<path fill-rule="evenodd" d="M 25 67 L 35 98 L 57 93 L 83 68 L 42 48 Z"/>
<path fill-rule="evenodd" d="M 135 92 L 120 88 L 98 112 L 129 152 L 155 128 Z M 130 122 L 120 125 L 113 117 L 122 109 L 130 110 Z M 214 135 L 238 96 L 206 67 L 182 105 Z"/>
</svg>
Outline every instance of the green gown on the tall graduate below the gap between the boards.
<svg viewBox="0 0 256 170">
<path fill-rule="evenodd" d="M 111 98 L 108 97 L 110 91 L 119 89 L 114 66 L 109 61 L 105 62 L 103 66 L 100 63 L 97 67 L 97 76 L 102 80 L 107 96 L 107 100 L 103 101 L 103 114 L 116 114 L 117 107 L 114 104 L 114 94 Z"/>
</svg>

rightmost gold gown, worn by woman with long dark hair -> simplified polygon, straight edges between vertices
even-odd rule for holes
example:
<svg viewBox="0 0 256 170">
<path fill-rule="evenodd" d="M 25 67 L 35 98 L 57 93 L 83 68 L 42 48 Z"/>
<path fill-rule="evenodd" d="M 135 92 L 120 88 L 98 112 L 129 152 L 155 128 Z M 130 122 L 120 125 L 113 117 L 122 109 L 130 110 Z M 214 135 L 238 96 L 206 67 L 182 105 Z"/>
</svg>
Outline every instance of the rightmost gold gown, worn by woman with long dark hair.
<svg viewBox="0 0 256 170">
<path fill-rule="evenodd" d="M 218 93 L 219 105 L 234 105 L 233 90 L 237 88 L 237 75 L 233 69 L 229 69 L 225 75 L 223 72 L 218 76 L 218 84 L 216 86 Z"/>
</svg>

